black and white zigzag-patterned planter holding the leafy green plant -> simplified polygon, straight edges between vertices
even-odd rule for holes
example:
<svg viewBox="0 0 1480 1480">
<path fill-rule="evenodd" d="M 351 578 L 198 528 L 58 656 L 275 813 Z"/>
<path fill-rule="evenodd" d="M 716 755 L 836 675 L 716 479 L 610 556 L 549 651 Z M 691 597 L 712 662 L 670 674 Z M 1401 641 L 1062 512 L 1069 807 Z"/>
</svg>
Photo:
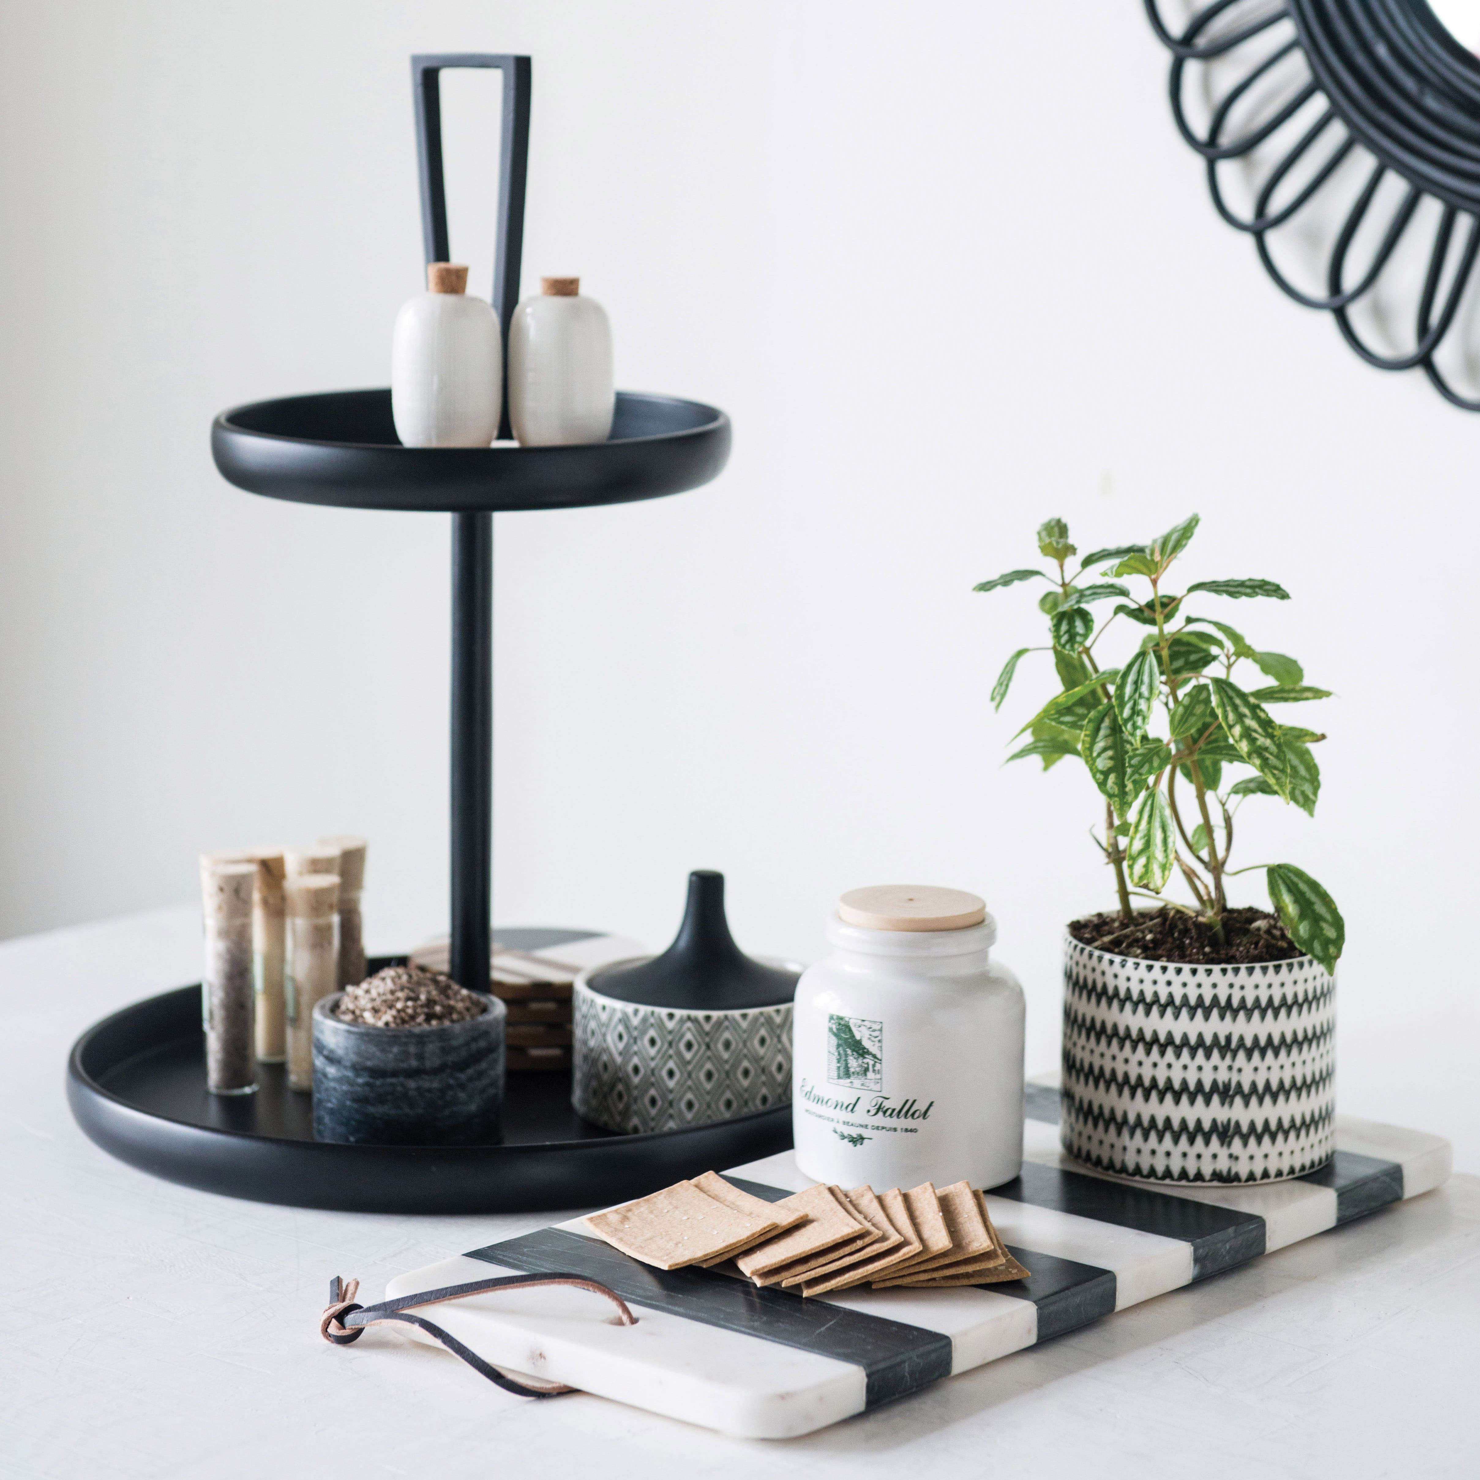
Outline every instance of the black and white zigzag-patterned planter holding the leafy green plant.
<svg viewBox="0 0 1480 1480">
<path fill-rule="evenodd" d="M 1302 1177 L 1336 1148 L 1336 981 L 1064 943 L 1064 1150 L 1150 1181 Z"/>
</svg>

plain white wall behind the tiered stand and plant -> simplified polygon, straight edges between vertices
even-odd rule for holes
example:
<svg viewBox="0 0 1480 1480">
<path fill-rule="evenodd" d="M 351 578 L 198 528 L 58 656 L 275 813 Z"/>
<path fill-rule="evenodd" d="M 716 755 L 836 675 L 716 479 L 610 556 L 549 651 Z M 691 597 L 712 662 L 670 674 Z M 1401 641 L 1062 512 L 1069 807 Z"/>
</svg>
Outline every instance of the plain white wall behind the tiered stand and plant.
<svg viewBox="0 0 1480 1480">
<path fill-rule="evenodd" d="M 1097 805 L 1002 768 L 1046 681 L 1000 716 L 987 691 L 1040 619 L 971 586 L 1048 515 L 1089 548 L 1196 509 L 1200 576 L 1295 593 L 1227 617 L 1341 696 L 1319 820 L 1249 808 L 1243 847 L 1345 910 L 1342 1106 L 1480 1169 L 1480 419 L 1265 281 L 1138 4 L 59 0 L 0 28 L 0 931 L 323 830 L 373 839 L 379 943 L 444 928 L 447 521 L 253 499 L 207 428 L 385 383 L 420 277 L 407 55 L 521 50 L 527 281 L 579 271 L 619 382 L 727 407 L 736 450 L 684 497 L 499 518 L 499 919 L 660 944 L 709 866 L 743 944 L 810 958 L 847 887 L 978 889 L 1052 1064 L 1060 925 L 1110 901 Z"/>
</svg>

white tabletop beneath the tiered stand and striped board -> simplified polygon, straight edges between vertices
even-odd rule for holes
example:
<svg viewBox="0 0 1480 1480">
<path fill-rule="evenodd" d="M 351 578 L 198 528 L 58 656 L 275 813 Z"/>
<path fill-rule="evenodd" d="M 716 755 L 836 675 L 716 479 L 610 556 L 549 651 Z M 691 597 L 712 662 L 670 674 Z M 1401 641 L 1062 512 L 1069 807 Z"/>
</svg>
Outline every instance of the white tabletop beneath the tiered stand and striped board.
<svg viewBox="0 0 1480 1480">
<path fill-rule="evenodd" d="M 4 1480 L 1480 1473 L 1480 1178 L 1464 1175 L 786 1443 L 511 1397 L 391 1333 L 330 1347 L 332 1274 L 377 1299 L 394 1274 L 559 1215 L 272 1208 L 105 1156 L 67 1110 L 67 1051 L 105 1012 L 195 978 L 198 956 L 189 909 L 0 943 Z"/>
</svg>

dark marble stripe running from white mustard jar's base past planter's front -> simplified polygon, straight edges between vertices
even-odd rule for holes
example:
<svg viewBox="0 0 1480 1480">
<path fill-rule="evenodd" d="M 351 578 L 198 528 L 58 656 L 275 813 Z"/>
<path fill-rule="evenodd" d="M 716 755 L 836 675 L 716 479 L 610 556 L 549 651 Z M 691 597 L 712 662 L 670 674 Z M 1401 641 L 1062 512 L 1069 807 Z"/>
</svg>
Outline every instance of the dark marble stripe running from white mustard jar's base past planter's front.
<svg viewBox="0 0 1480 1480">
<path fill-rule="evenodd" d="M 990 1188 L 990 1193 L 993 1197 L 1011 1197 L 1014 1202 L 1070 1212 L 1095 1222 L 1111 1222 L 1119 1228 L 1181 1239 L 1193 1246 L 1194 1280 L 1248 1264 L 1264 1252 L 1264 1220 L 1255 1214 L 1109 1183 L 1083 1172 L 1066 1172 L 1058 1166 L 1024 1162 L 1018 1177 Z"/>
</svg>

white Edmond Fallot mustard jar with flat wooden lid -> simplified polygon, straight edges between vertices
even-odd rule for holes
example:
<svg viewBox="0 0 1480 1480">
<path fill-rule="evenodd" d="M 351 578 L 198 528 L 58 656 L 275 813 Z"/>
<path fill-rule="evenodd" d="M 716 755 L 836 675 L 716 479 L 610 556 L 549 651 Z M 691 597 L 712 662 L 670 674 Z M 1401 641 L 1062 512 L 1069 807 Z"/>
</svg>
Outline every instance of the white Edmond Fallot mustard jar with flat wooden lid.
<svg viewBox="0 0 1480 1480">
<path fill-rule="evenodd" d="M 796 1165 L 841 1187 L 996 1187 L 1023 1165 L 1023 989 L 974 894 L 854 889 L 793 1021 Z"/>
</svg>

